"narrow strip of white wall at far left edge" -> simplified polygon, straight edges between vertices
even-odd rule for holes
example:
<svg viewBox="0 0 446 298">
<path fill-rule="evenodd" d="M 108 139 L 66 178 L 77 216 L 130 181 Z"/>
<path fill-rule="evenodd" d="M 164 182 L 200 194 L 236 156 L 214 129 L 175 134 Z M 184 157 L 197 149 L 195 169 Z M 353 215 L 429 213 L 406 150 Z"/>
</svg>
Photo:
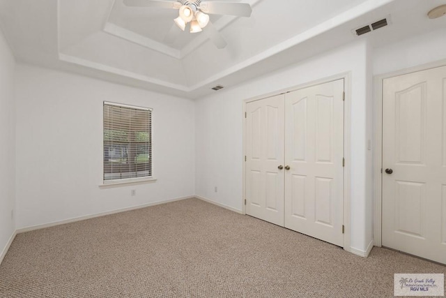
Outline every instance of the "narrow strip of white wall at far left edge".
<svg viewBox="0 0 446 298">
<path fill-rule="evenodd" d="M 0 30 L 0 262 L 15 230 L 15 60 Z"/>
</svg>

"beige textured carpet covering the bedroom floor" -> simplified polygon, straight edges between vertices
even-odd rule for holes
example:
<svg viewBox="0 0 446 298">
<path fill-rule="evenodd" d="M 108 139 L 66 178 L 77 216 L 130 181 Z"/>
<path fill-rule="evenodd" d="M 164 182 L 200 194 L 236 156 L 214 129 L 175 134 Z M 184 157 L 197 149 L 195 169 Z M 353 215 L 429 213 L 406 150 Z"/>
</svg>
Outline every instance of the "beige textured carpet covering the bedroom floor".
<svg viewBox="0 0 446 298">
<path fill-rule="evenodd" d="M 446 267 L 190 199 L 18 234 L 0 297 L 393 297 L 394 273 Z"/>
</svg>

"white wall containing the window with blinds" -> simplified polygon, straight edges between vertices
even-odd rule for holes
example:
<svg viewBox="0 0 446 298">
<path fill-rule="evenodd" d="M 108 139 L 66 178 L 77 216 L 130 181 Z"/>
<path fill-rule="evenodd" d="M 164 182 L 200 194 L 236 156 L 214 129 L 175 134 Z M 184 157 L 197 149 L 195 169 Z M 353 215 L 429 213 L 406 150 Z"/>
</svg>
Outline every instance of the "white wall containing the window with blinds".
<svg viewBox="0 0 446 298">
<path fill-rule="evenodd" d="M 193 101 L 45 68 L 16 73 L 17 228 L 194 195 Z M 153 108 L 157 181 L 99 187 L 104 100 Z"/>
</svg>

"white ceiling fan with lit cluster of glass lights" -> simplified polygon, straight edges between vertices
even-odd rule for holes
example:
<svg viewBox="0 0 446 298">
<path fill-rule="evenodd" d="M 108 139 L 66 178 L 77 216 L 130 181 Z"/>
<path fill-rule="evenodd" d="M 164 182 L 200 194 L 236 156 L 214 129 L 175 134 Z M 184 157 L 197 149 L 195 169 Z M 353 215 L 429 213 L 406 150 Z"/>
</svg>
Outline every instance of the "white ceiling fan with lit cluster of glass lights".
<svg viewBox="0 0 446 298">
<path fill-rule="evenodd" d="M 171 8 L 178 9 L 178 17 L 174 20 L 176 26 L 185 31 L 186 25 L 190 23 L 190 33 L 197 33 L 206 27 L 205 32 L 210 40 L 219 49 L 226 47 L 226 41 L 220 33 L 213 27 L 209 20 L 209 15 L 235 15 L 237 17 L 251 16 L 252 9 L 248 3 L 238 2 L 219 2 L 219 1 L 201 1 L 201 0 L 124 0 L 125 6 L 134 7 L 153 7 L 153 8 Z M 164 38 L 166 43 L 172 43 L 175 40 L 176 32 L 170 30 Z"/>
</svg>

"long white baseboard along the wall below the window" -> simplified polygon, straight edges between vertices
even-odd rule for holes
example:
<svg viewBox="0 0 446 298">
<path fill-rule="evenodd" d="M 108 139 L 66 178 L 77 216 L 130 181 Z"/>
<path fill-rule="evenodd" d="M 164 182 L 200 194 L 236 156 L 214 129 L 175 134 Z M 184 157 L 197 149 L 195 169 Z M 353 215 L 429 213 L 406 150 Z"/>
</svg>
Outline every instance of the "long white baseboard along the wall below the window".
<svg viewBox="0 0 446 298">
<path fill-rule="evenodd" d="M 159 204 L 166 204 L 166 203 L 170 203 L 170 202 L 176 202 L 176 201 L 186 200 L 186 199 L 191 199 L 191 198 L 196 198 L 196 197 L 194 195 L 191 195 L 189 197 L 175 198 L 175 199 L 165 200 L 165 201 L 160 201 L 160 202 L 151 202 L 151 203 L 147 203 L 147 204 L 141 204 L 141 205 L 122 208 L 122 209 L 115 209 L 112 211 L 105 211 L 105 212 L 101 212 L 98 214 L 90 214 L 90 215 L 86 215 L 86 216 L 68 218 L 68 219 L 64 219 L 63 221 L 53 221 L 52 223 L 44 223 L 42 225 L 31 225 L 29 227 L 17 229 L 16 232 L 17 232 L 17 234 L 24 233 L 24 232 L 31 232 L 34 230 L 40 230 L 40 229 L 54 227 L 56 225 L 64 225 L 66 223 L 75 223 L 76 221 L 84 221 L 86 219 L 91 219 L 91 218 L 95 218 L 95 217 L 106 216 L 106 215 L 110 215 L 110 214 L 116 214 L 116 213 L 121 213 L 121 212 L 125 212 L 125 211 L 131 211 L 131 210 L 136 210 L 136 209 L 141 209 L 141 208 L 151 207 L 151 206 L 155 206 L 155 205 L 159 205 Z"/>
</svg>

